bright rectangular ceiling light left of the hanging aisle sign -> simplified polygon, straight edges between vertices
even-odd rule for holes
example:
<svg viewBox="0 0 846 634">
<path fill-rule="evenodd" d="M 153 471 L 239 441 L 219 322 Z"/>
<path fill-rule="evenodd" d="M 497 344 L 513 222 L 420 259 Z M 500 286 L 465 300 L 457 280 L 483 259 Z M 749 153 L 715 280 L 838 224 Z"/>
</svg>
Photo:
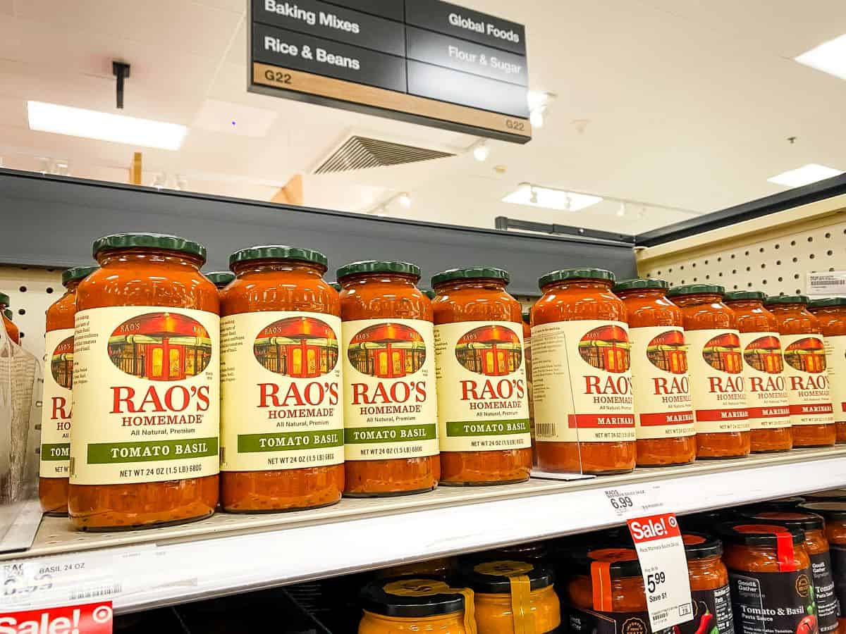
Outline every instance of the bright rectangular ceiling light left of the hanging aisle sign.
<svg viewBox="0 0 846 634">
<path fill-rule="evenodd" d="M 98 139 L 162 150 L 179 150 L 185 134 L 188 134 L 188 128 L 178 123 L 162 123 L 42 101 L 27 101 L 26 107 L 30 130 L 39 132 L 67 134 L 83 139 Z"/>
</svg>

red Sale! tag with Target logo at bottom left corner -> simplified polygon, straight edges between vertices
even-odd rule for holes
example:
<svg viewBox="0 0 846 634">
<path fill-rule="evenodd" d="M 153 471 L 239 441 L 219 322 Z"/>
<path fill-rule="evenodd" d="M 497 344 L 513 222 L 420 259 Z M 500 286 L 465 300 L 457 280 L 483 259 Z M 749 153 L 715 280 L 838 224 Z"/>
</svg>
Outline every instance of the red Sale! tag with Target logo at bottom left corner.
<svg viewBox="0 0 846 634">
<path fill-rule="evenodd" d="M 0 615 L 0 632 L 112 634 L 112 602 L 7 612 Z"/>
</svg>

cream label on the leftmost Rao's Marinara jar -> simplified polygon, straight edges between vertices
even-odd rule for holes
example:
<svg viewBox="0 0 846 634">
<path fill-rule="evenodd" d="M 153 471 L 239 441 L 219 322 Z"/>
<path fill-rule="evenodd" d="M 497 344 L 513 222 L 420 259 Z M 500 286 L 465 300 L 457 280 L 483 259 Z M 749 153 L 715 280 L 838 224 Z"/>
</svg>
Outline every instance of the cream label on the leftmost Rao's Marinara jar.
<svg viewBox="0 0 846 634">
<path fill-rule="evenodd" d="M 634 440 L 629 326 L 580 320 L 531 330 L 536 439 Z"/>
</svg>

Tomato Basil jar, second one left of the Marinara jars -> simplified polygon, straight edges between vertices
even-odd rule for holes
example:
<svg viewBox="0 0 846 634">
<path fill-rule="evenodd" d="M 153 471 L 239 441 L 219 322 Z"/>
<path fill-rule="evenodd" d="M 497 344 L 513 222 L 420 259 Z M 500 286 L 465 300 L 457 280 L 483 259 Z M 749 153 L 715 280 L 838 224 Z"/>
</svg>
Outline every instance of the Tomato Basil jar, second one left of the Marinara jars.
<svg viewBox="0 0 846 634">
<path fill-rule="evenodd" d="M 338 269 L 343 359 L 344 495 L 430 491 L 438 458 L 431 301 L 420 268 L 365 260 Z"/>
</svg>

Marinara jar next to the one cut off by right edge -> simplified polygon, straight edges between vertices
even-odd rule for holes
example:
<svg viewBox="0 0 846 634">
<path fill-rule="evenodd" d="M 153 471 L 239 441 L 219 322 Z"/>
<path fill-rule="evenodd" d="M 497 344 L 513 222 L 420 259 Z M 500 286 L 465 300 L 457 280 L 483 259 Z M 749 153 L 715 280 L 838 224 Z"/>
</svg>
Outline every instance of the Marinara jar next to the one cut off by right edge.
<svg viewBox="0 0 846 634">
<path fill-rule="evenodd" d="M 820 320 L 808 312 L 805 295 L 770 297 L 766 308 L 782 336 L 794 447 L 833 445 L 837 431 Z"/>
</svg>

